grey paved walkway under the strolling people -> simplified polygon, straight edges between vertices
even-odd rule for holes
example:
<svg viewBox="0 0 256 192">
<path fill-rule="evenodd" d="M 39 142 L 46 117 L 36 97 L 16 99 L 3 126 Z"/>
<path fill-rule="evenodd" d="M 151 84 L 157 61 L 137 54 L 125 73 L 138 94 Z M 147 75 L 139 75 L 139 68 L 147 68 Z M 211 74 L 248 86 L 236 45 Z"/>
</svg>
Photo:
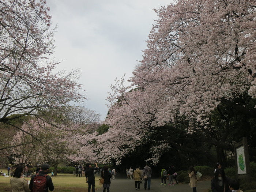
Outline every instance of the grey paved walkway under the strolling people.
<svg viewBox="0 0 256 192">
<path fill-rule="evenodd" d="M 166 180 L 166 183 L 169 180 Z M 188 184 L 179 184 L 179 185 L 160 185 L 161 178 L 151 179 L 151 192 L 192 192 L 192 188 Z M 210 189 L 210 181 L 199 181 L 197 182 L 196 191 L 197 192 L 208 192 Z M 111 180 L 110 192 L 135 192 L 135 181 L 125 178 L 124 175 L 116 175 L 115 180 Z M 96 190 L 97 192 L 102 192 L 103 188 Z M 144 181 L 140 184 L 140 190 L 145 191 Z M 148 190 L 147 190 L 148 191 Z"/>
</svg>

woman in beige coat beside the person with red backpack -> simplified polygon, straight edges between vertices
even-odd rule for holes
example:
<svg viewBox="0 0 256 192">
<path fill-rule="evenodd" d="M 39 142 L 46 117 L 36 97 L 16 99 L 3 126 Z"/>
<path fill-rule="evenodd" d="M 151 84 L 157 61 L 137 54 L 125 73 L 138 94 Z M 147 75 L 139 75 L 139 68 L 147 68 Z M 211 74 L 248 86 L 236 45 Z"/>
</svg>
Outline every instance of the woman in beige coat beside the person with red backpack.
<svg viewBox="0 0 256 192">
<path fill-rule="evenodd" d="M 29 184 L 24 177 L 21 177 L 23 174 L 23 167 L 18 166 L 13 177 L 11 177 L 10 184 L 12 187 L 12 192 L 30 192 Z"/>
</svg>

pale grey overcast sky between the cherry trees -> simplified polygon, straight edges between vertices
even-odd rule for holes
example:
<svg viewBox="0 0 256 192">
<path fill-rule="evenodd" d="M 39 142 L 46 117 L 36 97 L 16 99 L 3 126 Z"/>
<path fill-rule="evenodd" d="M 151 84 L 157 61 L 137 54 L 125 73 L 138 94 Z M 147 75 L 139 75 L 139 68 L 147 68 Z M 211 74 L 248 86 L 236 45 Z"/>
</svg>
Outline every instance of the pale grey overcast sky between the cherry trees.
<svg viewBox="0 0 256 192">
<path fill-rule="evenodd" d="M 80 69 L 78 80 L 89 100 L 86 108 L 104 120 L 110 85 L 128 79 L 139 61 L 157 14 L 172 0 L 48 0 L 58 70 Z"/>
</svg>

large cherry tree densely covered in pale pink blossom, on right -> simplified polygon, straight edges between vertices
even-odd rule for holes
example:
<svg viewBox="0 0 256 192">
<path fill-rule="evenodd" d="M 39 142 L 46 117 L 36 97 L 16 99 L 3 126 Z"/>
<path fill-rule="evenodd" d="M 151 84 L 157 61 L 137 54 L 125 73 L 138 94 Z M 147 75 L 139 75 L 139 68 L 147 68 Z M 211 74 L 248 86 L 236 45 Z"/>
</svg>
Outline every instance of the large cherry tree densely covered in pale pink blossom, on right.
<svg viewBox="0 0 256 192">
<path fill-rule="evenodd" d="M 121 161 L 149 128 L 168 124 L 173 131 L 184 124 L 191 136 L 233 150 L 224 133 L 219 140 L 211 136 L 217 128 L 211 117 L 225 105 L 256 118 L 254 106 L 237 102 L 256 95 L 255 1 L 178 0 L 155 11 L 159 19 L 129 79 L 132 86 L 125 87 L 124 79 L 112 86 L 105 122 L 110 129 L 97 137 L 103 157 Z M 159 147 L 148 160 L 157 163 Z"/>
</svg>

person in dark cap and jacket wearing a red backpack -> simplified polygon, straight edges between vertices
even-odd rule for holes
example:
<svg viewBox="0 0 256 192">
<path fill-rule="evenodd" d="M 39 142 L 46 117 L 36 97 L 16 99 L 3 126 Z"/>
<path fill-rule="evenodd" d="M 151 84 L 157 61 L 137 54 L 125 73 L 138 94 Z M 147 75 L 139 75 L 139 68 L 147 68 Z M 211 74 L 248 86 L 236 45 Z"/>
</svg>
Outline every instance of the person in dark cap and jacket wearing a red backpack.
<svg viewBox="0 0 256 192">
<path fill-rule="evenodd" d="M 29 189 L 31 192 L 48 192 L 48 189 L 53 191 L 54 186 L 52 178 L 48 176 L 49 168 L 50 166 L 48 163 L 43 163 L 41 165 L 41 170 L 32 176 L 29 183 Z"/>
</svg>

